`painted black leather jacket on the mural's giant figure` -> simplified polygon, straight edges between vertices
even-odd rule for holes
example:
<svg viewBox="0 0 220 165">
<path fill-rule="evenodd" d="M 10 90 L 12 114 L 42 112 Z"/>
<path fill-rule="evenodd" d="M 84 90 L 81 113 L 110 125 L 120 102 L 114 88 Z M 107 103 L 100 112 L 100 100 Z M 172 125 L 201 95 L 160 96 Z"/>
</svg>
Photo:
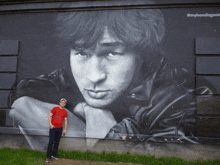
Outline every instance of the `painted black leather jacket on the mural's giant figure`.
<svg viewBox="0 0 220 165">
<path fill-rule="evenodd" d="M 55 104 L 64 97 L 68 100 L 66 108 L 73 112 L 84 99 L 67 70 L 57 69 L 47 75 L 22 80 L 16 93 L 11 93 L 9 104 L 22 96 Z M 188 75 L 183 68 L 169 69 L 162 60 L 141 85 L 130 91 L 126 106 L 129 115 L 116 119 L 118 123 L 110 129 L 106 138 L 196 143 L 195 90 L 187 85 L 191 81 Z M 196 90 L 211 93 L 206 87 Z M 114 116 L 117 118 L 117 115 Z"/>
</svg>

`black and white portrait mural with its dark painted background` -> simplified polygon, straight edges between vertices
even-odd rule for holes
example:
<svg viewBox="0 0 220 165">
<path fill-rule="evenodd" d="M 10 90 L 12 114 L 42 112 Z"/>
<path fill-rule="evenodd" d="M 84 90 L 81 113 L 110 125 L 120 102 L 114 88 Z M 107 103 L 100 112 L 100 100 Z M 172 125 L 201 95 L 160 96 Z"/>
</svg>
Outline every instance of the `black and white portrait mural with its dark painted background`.
<svg viewBox="0 0 220 165">
<path fill-rule="evenodd" d="M 2 38 L 20 41 L 16 92 L 9 98 L 15 126 L 42 135 L 51 109 L 66 98 L 68 137 L 198 143 L 195 94 L 215 89 L 195 86 L 194 39 L 220 35 L 210 30 L 220 22 L 189 13 L 216 12 L 130 8 L 2 16 Z"/>
</svg>

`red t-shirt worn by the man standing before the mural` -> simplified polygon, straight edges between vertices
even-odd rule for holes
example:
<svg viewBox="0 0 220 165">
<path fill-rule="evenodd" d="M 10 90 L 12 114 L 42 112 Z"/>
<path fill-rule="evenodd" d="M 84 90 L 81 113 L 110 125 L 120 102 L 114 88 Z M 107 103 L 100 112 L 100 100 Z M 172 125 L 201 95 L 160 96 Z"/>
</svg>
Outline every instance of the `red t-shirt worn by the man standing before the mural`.
<svg viewBox="0 0 220 165">
<path fill-rule="evenodd" d="M 67 117 L 67 111 L 65 109 L 60 109 L 60 107 L 54 107 L 51 110 L 52 116 L 52 125 L 55 128 L 63 127 L 63 118 Z"/>
</svg>

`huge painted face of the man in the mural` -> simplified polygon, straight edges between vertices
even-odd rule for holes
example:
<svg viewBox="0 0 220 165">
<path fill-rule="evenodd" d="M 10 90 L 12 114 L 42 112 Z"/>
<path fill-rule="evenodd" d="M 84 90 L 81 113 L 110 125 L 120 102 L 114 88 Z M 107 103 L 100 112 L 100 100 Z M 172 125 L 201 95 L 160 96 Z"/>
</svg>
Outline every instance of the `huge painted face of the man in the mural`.
<svg viewBox="0 0 220 165">
<path fill-rule="evenodd" d="M 112 37 L 107 28 L 95 46 L 71 49 L 70 65 L 85 101 L 96 108 L 105 108 L 118 99 L 140 67 L 137 55 Z"/>
</svg>

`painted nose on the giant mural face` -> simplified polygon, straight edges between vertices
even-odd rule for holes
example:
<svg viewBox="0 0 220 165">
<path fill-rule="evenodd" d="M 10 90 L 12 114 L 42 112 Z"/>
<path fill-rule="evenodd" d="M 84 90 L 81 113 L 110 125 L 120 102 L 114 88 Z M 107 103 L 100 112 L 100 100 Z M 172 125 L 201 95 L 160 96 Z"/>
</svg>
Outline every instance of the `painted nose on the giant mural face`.
<svg viewBox="0 0 220 165">
<path fill-rule="evenodd" d="M 89 63 L 88 79 L 92 83 L 98 83 L 106 79 L 105 68 L 99 57 L 93 56 Z"/>
</svg>

